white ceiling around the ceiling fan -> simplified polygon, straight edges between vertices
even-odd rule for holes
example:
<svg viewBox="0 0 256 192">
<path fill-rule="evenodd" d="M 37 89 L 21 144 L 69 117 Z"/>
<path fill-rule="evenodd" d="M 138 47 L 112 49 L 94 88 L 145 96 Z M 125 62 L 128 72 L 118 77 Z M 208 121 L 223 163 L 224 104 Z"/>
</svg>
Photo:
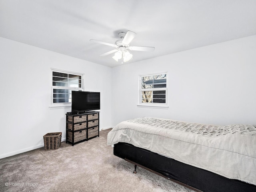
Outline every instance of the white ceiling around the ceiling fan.
<svg viewBox="0 0 256 192">
<path fill-rule="evenodd" d="M 90 62 L 117 66 L 118 32 L 136 32 L 130 51 L 146 60 L 256 35 L 256 0 L 0 0 L 0 36 Z"/>
</svg>

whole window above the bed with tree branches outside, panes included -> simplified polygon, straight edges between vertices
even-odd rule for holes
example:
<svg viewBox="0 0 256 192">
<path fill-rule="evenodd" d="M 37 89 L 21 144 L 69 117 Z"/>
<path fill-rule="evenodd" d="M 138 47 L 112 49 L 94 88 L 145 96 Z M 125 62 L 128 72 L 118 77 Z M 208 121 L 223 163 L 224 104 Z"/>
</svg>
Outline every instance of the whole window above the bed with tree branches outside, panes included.
<svg viewBox="0 0 256 192">
<path fill-rule="evenodd" d="M 167 107 L 167 73 L 140 76 L 140 106 Z"/>
</svg>

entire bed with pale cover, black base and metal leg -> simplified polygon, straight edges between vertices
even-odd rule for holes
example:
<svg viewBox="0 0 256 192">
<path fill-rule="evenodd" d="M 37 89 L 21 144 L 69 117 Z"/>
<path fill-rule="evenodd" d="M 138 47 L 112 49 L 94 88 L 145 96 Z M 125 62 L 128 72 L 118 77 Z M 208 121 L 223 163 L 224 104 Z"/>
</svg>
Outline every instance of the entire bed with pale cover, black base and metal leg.
<svg viewBox="0 0 256 192">
<path fill-rule="evenodd" d="M 116 125 L 114 155 L 195 191 L 256 192 L 256 126 L 142 117 Z"/>
</svg>

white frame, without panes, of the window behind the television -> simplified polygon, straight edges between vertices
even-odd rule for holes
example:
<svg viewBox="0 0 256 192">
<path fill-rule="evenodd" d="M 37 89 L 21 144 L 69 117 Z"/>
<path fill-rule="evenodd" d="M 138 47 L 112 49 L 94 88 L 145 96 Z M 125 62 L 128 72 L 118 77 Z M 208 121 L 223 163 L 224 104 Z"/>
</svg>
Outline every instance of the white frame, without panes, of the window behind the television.
<svg viewBox="0 0 256 192">
<path fill-rule="evenodd" d="M 72 75 L 81 76 L 81 88 L 52 85 L 52 82 L 53 82 L 53 80 L 52 80 L 53 74 L 52 73 L 53 72 L 60 72 L 60 73 L 65 73 L 65 74 L 72 74 Z M 59 103 L 54 103 L 53 102 L 54 89 L 66 89 L 66 90 L 83 91 L 84 90 L 84 74 L 83 73 L 78 73 L 78 72 L 72 72 L 72 71 L 67 71 L 67 70 L 60 70 L 60 69 L 51 68 L 51 104 L 50 104 L 50 108 L 70 108 L 71 105 L 72 105 L 71 102 L 59 102 Z"/>
</svg>

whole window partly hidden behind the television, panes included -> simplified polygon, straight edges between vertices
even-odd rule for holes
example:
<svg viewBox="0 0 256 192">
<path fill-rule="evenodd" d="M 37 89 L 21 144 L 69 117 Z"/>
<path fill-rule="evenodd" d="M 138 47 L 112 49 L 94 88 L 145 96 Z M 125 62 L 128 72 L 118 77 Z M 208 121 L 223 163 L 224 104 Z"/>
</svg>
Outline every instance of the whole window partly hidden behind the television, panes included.
<svg viewBox="0 0 256 192">
<path fill-rule="evenodd" d="M 52 106 L 70 106 L 72 90 L 83 90 L 83 74 L 52 69 Z"/>
</svg>

